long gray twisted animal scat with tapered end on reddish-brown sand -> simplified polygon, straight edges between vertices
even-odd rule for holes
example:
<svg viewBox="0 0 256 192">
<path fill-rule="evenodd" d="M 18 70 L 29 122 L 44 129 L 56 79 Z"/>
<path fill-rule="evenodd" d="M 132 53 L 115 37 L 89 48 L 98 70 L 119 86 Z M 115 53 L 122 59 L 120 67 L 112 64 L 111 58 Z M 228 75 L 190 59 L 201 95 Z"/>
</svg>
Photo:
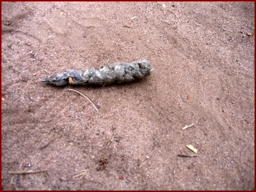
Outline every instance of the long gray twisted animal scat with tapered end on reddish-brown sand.
<svg viewBox="0 0 256 192">
<path fill-rule="evenodd" d="M 44 77 L 40 82 L 52 85 L 108 85 L 111 83 L 131 82 L 151 74 L 152 68 L 146 59 L 135 62 L 116 62 L 99 69 L 94 67 L 85 71 L 68 69 L 65 72 L 50 77 Z"/>
</svg>

